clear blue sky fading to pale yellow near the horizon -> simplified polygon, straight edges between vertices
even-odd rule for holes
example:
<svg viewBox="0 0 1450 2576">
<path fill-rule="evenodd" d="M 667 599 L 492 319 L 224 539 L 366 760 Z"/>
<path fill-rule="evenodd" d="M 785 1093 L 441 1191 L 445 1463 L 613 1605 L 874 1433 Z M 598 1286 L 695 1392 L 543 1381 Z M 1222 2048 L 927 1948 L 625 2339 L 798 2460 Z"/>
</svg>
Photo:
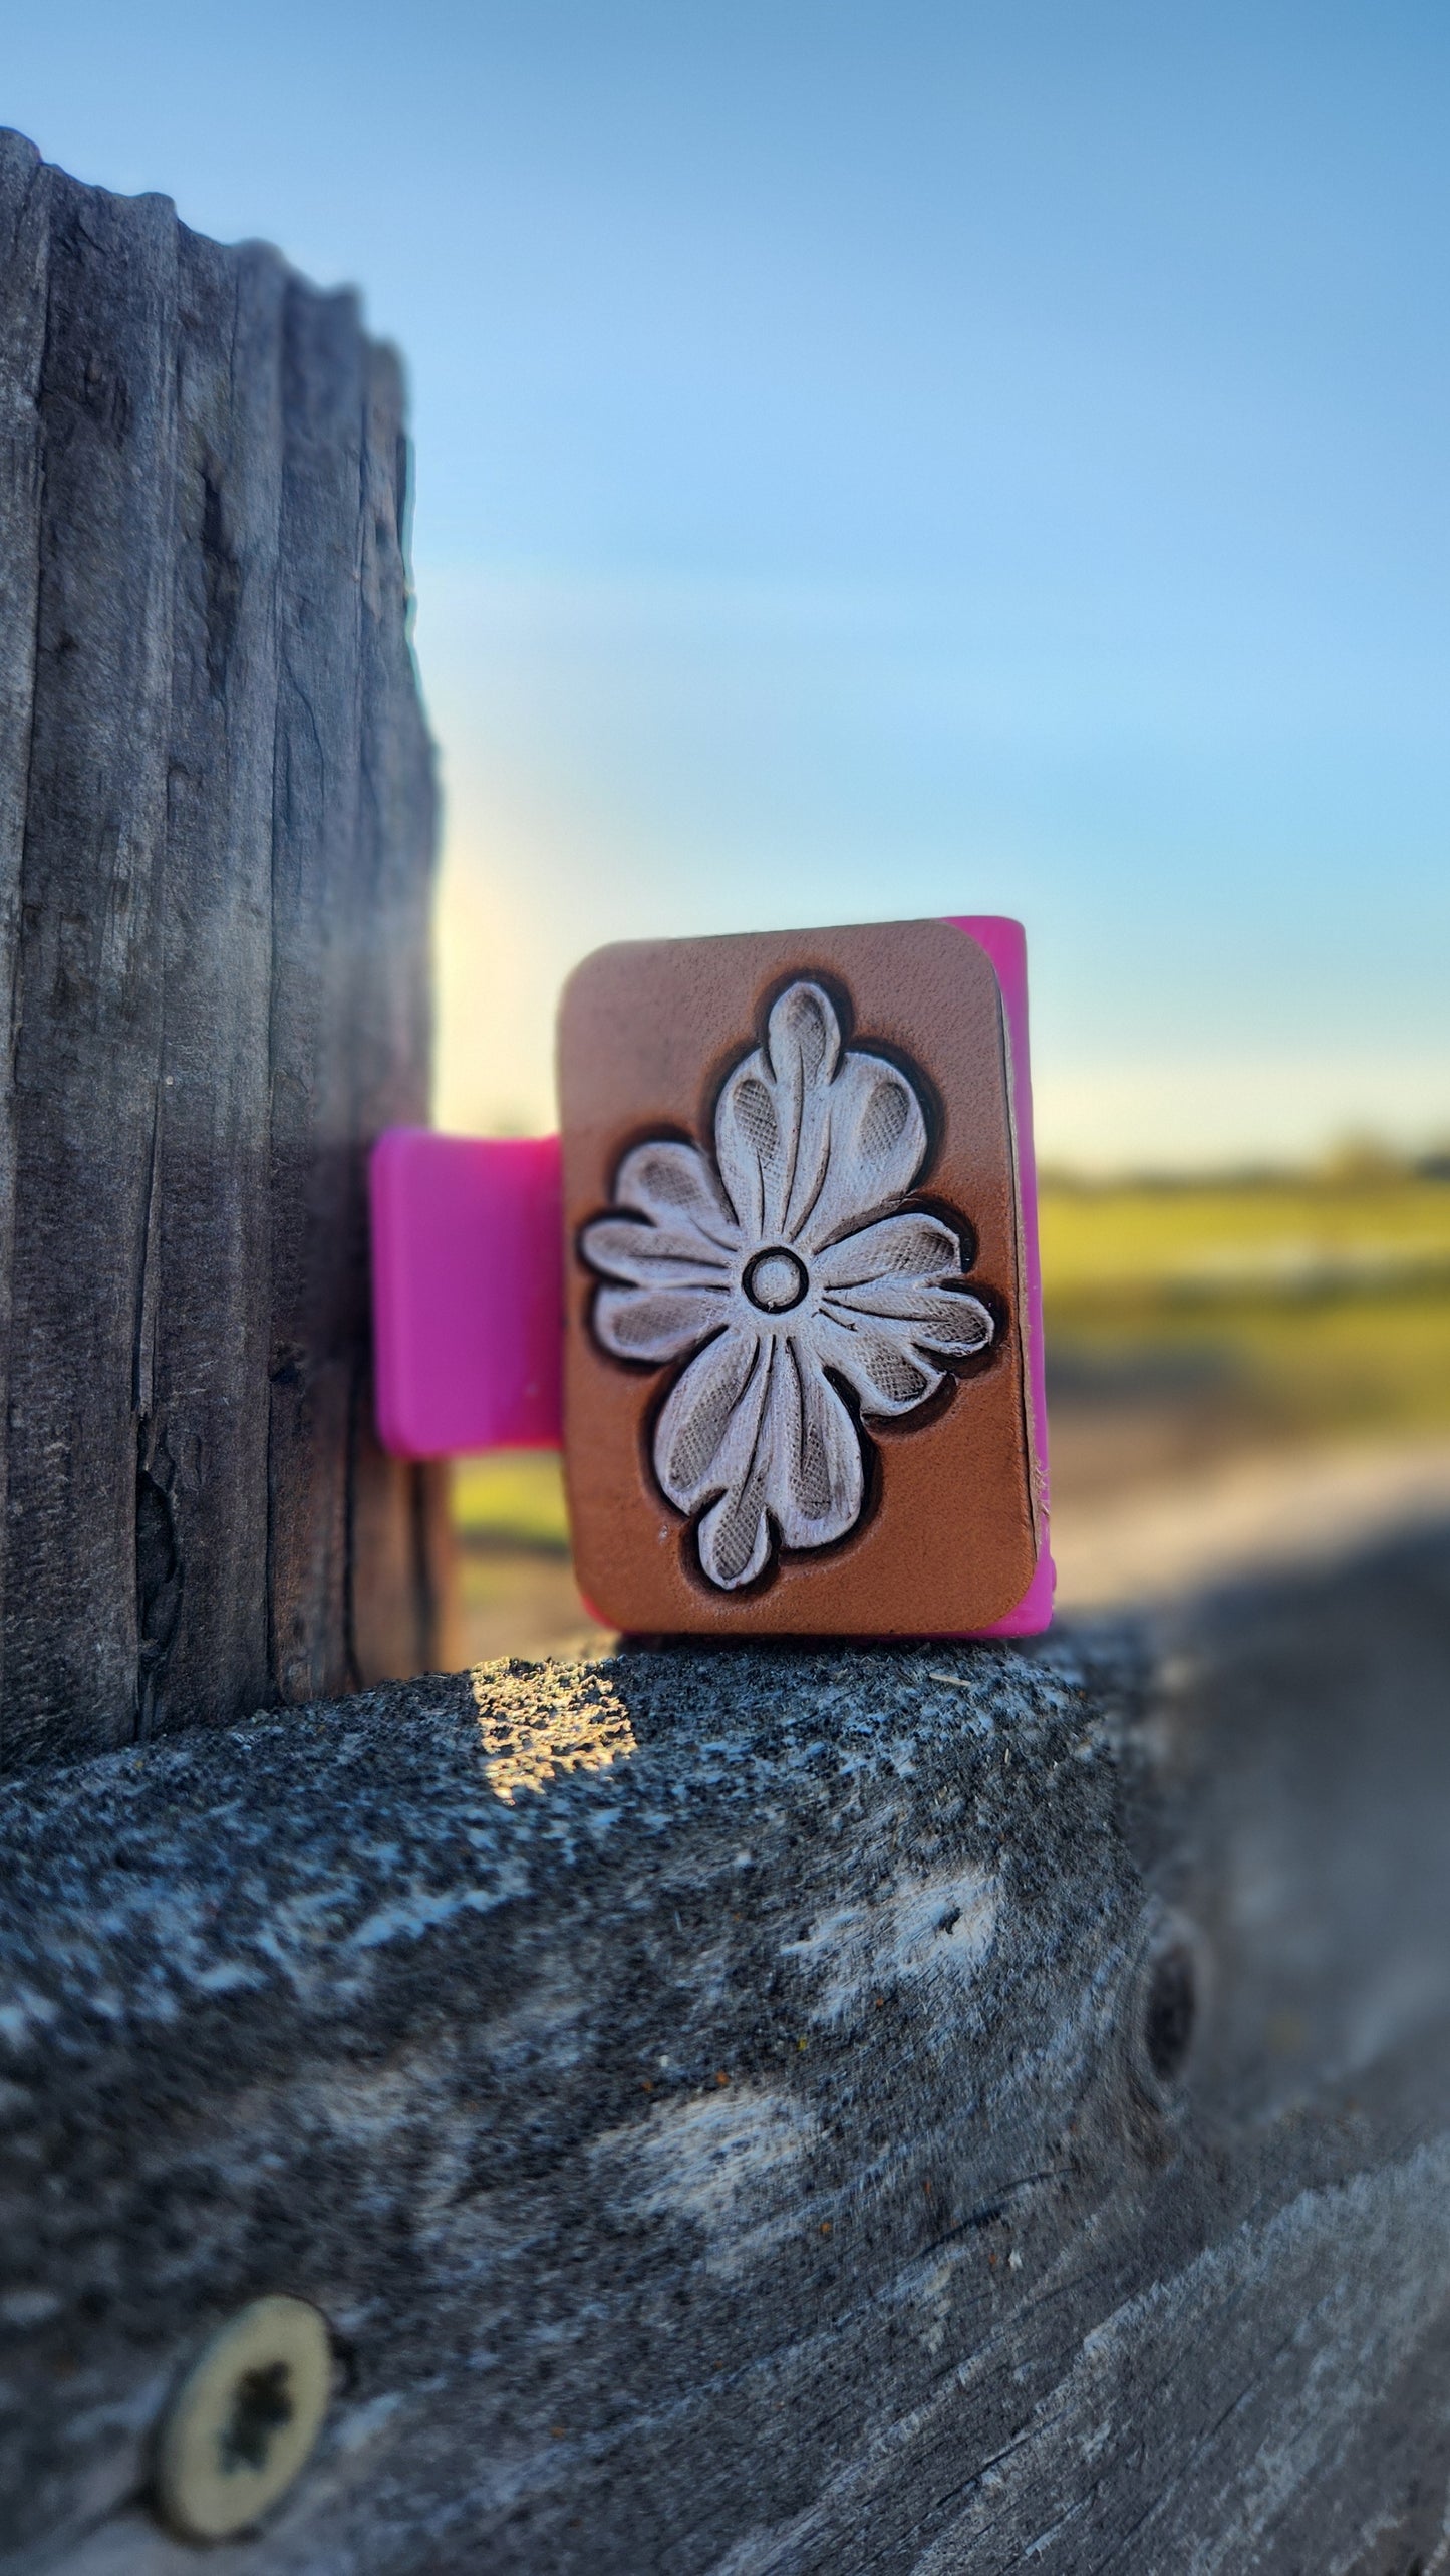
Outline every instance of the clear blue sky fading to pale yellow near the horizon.
<svg viewBox="0 0 1450 2576">
<path fill-rule="evenodd" d="M 0 0 L 410 363 L 440 1115 L 605 938 L 1020 912 L 1043 1146 L 1450 1131 L 1450 18 Z"/>
</svg>

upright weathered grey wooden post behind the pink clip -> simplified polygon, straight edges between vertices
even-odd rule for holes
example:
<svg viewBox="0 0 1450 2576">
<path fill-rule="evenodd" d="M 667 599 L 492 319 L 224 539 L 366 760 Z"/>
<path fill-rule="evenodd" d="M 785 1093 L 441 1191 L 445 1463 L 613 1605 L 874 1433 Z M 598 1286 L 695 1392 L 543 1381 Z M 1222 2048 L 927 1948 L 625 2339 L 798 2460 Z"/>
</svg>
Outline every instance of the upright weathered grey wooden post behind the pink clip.
<svg viewBox="0 0 1450 2576">
<path fill-rule="evenodd" d="M 363 1157 L 428 1095 L 399 368 L 0 137 L 5 1762 L 438 1659 Z"/>
</svg>

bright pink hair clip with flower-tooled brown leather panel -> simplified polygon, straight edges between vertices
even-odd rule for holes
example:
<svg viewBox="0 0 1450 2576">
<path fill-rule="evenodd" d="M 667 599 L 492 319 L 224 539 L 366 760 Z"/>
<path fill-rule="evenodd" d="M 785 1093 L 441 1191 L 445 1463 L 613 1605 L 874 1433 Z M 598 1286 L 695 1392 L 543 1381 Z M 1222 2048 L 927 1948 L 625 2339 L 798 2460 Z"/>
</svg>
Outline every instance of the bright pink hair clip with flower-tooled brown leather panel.
<svg viewBox="0 0 1450 2576">
<path fill-rule="evenodd" d="M 559 1445 L 616 1628 L 1046 1628 L 1020 925 L 603 948 L 559 1115 L 379 1141 L 384 1443 Z"/>
</svg>

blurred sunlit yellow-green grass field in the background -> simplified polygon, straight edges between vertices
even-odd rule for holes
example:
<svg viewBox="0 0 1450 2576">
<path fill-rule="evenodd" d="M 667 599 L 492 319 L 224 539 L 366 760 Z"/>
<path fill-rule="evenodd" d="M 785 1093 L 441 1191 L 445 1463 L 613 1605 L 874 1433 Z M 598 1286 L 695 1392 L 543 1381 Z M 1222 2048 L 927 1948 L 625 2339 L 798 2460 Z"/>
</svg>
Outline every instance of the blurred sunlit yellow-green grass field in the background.
<svg viewBox="0 0 1450 2576">
<path fill-rule="evenodd" d="M 1040 1224 L 1056 1404 L 1198 1391 L 1259 1437 L 1450 1432 L 1450 1182 L 1051 1180 Z M 466 1461 L 456 1520 L 564 1551 L 559 1461 Z"/>
</svg>

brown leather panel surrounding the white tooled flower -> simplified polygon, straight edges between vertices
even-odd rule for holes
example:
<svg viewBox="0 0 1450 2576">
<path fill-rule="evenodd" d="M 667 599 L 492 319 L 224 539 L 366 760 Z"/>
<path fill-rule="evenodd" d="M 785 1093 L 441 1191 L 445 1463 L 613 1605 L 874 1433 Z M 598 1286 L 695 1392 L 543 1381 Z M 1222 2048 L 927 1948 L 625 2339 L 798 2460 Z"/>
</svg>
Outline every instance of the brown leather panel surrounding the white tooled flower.
<svg viewBox="0 0 1450 2576">
<path fill-rule="evenodd" d="M 610 1206 L 626 1146 L 672 1131 L 713 1149 L 713 1100 L 760 1043 L 788 976 L 824 976 L 852 1002 L 850 1043 L 907 1056 L 935 1087 L 937 1131 L 912 1198 L 976 1231 L 971 1288 L 999 1332 L 922 1417 L 868 1422 L 876 1510 L 834 1548 L 783 1556 L 762 1589 L 706 1582 L 688 1522 L 659 1494 L 649 1422 L 683 1363 L 649 1373 L 590 1334 L 598 1285 L 579 1226 Z M 649 940 L 600 948 L 559 1012 L 564 1131 L 564 1458 L 574 1566 L 618 1628 L 703 1636 L 948 1636 L 1010 1610 L 1033 1577 L 1017 1206 L 1002 1002 L 981 948 L 948 922 Z"/>
</svg>

